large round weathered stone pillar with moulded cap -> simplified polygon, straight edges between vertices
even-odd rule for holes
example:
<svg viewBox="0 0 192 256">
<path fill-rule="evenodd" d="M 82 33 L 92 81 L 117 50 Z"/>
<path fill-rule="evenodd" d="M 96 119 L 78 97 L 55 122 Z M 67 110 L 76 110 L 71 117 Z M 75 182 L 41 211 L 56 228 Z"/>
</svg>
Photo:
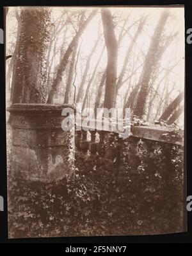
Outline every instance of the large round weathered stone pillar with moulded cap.
<svg viewBox="0 0 192 256">
<path fill-rule="evenodd" d="M 74 129 L 63 131 L 63 108 L 70 105 L 13 104 L 12 174 L 30 181 L 57 181 L 74 167 Z"/>
</svg>

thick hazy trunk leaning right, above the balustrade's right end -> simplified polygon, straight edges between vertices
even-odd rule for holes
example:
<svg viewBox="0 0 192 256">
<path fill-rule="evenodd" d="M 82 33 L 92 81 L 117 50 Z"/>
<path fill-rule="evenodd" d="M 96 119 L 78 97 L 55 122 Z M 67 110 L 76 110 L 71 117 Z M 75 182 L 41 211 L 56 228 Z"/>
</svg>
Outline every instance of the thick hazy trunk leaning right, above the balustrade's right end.
<svg viewBox="0 0 192 256">
<path fill-rule="evenodd" d="M 154 71 L 154 69 L 156 69 L 159 59 L 162 56 L 162 49 L 164 48 L 164 46 L 160 46 L 159 42 L 161 42 L 161 35 L 163 32 L 164 25 L 166 24 L 166 21 L 168 19 L 168 16 L 168 11 L 163 12 L 163 14 L 161 15 L 157 23 L 154 35 L 151 39 L 147 56 L 145 58 L 140 91 L 138 93 L 136 107 L 134 108 L 133 111 L 133 114 L 140 118 L 143 116 L 143 114 L 145 114 L 145 104 L 147 101 L 148 86 L 151 74 Z"/>
</svg>

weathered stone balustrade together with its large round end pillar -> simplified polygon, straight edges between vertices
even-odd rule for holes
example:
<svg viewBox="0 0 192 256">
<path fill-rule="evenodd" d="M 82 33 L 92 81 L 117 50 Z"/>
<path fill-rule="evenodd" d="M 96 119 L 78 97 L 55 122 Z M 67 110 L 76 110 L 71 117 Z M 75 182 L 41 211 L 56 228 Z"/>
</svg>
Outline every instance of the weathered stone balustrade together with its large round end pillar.
<svg viewBox="0 0 192 256">
<path fill-rule="evenodd" d="M 77 129 L 63 131 L 63 108 L 72 105 L 13 104 L 8 107 L 12 127 L 12 174 L 25 179 L 57 181 L 72 174 L 74 152 L 99 154 L 120 161 L 129 155 L 132 168 L 140 165 L 140 152 L 154 152 L 154 143 L 183 147 L 184 131 L 153 126 L 132 126 L 124 138 L 118 131 Z M 88 128 L 88 127 L 86 127 Z M 86 131 L 85 131 L 86 130 Z M 74 143 L 75 142 L 75 143 Z M 125 148 L 125 144 L 127 147 Z M 153 145 L 153 146 L 152 146 Z"/>
</svg>

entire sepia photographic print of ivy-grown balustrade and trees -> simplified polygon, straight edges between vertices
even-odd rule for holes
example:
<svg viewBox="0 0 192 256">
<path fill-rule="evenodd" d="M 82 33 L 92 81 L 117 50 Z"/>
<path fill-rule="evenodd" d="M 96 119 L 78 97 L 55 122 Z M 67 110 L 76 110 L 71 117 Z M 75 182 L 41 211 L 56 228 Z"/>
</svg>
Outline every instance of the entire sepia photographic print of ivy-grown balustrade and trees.
<svg viewBox="0 0 192 256">
<path fill-rule="evenodd" d="M 12 6 L 9 239 L 186 232 L 184 6 Z"/>
</svg>

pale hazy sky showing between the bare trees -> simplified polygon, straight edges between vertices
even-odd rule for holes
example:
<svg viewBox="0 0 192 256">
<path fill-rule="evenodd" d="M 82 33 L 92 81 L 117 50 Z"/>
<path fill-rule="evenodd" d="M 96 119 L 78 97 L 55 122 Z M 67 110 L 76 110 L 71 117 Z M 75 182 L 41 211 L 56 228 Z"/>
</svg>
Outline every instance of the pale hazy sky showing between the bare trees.
<svg viewBox="0 0 192 256">
<path fill-rule="evenodd" d="M 90 52 L 92 51 L 92 48 L 98 37 L 100 37 L 100 40 L 90 60 L 90 68 L 88 71 L 86 84 L 88 84 L 88 81 L 92 77 L 93 69 L 95 68 L 95 64 L 97 63 L 100 53 L 102 52 L 102 49 L 104 47 L 102 18 L 100 15 L 100 8 L 97 9 L 98 13 L 95 15 L 95 17 L 93 17 L 92 21 L 90 21 L 90 23 L 86 27 L 86 30 L 84 30 L 83 35 L 81 35 L 79 39 L 79 44 L 77 46 L 77 53 L 79 51 L 79 55 L 78 59 L 76 57 L 76 80 L 73 81 L 77 88 L 77 91 L 79 85 L 81 84 L 84 68 L 86 66 L 86 60 L 88 59 L 88 56 L 90 55 Z M 19 8 L 17 8 L 17 10 L 19 10 Z M 84 11 L 86 19 L 90 12 L 92 12 L 92 10 L 92 7 L 51 7 L 51 33 L 54 32 L 54 29 L 56 29 L 55 38 L 52 41 L 51 52 L 48 60 L 49 65 L 51 65 L 51 79 L 54 77 L 54 72 L 56 71 L 56 68 L 60 63 L 62 51 L 63 53 L 65 53 L 65 50 L 67 50 L 68 45 L 76 34 L 76 30 L 78 29 L 77 15 Z M 120 71 L 122 70 L 125 54 L 127 53 L 127 49 L 131 44 L 132 37 L 134 37 L 138 29 L 138 24 L 141 18 L 145 20 L 145 22 L 143 23 L 143 28 L 141 29 L 141 32 L 136 39 L 136 42 L 134 42 L 131 54 L 129 55 L 129 62 L 127 63 L 123 78 L 123 81 L 125 82 L 118 91 L 118 96 L 116 97 L 116 104 L 118 107 L 121 107 L 122 100 L 124 99 L 124 95 L 127 91 L 127 87 L 130 87 L 130 91 L 128 92 L 129 95 L 131 89 L 136 86 L 140 78 L 143 63 L 145 61 L 145 56 L 150 45 L 150 39 L 152 38 L 157 21 L 159 20 L 159 17 L 161 16 L 164 8 L 143 8 L 127 6 L 124 8 L 111 7 L 109 8 L 109 10 L 111 10 L 111 14 L 113 16 L 113 23 L 115 24 L 115 35 L 117 41 L 119 39 L 119 36 L 122 35 L 122 40 L 118 45 L 117 79 Z M 179 92 L 184 89 L 184 8 L 172 7 L 168 8 L 168 10 L 170 10 L 170 15 L 168 17 L 166 25 L 164 26 L 163 37 L 166 39 L 166 37 L 174 35 L 175 33 L 177 33 L 177 36 L 175 35 L 175 38 L 172 39 L 172 42 L 170 42 L 170 44 L 164 51 L 163 57 L 160 60 L 158 75 L 156 79 L 154 79 L 152 84 L 152 91 L 155 92 L 156 88 L 158 87 L 156 99 L 154 100 L 154 105 L 156 105 L 156 101 L 157 104 L 159 104 L 159 100 L 161 99 L 161 95 L 163 95 L 163 91 L 165 89 L 169 95 L 168 102 L 166 104 L 169 104 L 175 98 L 175 96 L 177 96 Z M 67 23 L 65 23 L 67 19 L 68 21 Z M 127 21 L 125 22 L 126 19 Z M 17 21 L 15 18 L 15 7 L 10 7 L 6 23 L 6 55 L 13 53 L 16 35 Z M 9 64 L 9 62 L 7 62 L 6 64 Z M 90 102 L 94 102 L 94 95 L 97 91 L 97 86 L 95 86 L 95 84 L 100 83 L 102 73 L 106 69 L 106 64 L 107 51 L 105 48 L 99 62 L 99 67 L 97 68 L 95 78 L 93 80 L 93 86 L 90 87 L 90 93 L 92 94 L 90 96 Z M 65 92 L 68 69 L 69 68 L 67 67 L 66 72 L 63 73 L 63 78 L 61 82 L 64 85 L 63 87 L 61 86 L 61 91 L 63 89 L 63 93 L 60 94 L 58 102 L 60 102 L 60 100 L 62 102 L 63 100 L 62 94 L 64 94 Z M 166 75 L 166 73 L 168 73 L 168 75 Z M 164 79 L 164 77 L 166 77 L 166 80 Z M 159 82 L 160 86 L 158 86 Z M 165 84 L 168 85 L 166 86 Z M 84 87 L 84 91 L 85 90 L 86 86 Z M 70 101 L 72 102 L 72 97 L 70 97 Z"/>
</svg>

